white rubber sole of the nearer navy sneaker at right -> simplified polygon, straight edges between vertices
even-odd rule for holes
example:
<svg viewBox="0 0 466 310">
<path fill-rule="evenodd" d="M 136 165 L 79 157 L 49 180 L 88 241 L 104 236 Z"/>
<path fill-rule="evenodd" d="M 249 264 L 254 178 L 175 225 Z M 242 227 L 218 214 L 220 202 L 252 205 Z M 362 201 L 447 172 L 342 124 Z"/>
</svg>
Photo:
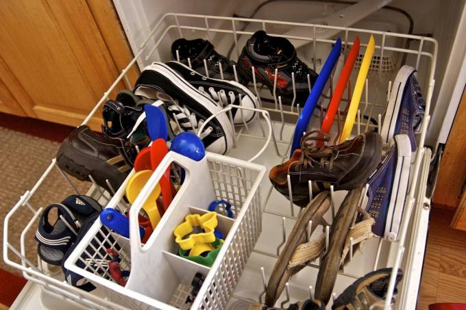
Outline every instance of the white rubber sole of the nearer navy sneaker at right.
<svg viewBox="0 0 466 310">
<path fill-rule="evenodd" d="M 397 143 L 397 164 L 384 232 L 384 237 L 391 241 L 396 240 L 400 229 L 411 164 L 411 143 L 408 135 L 395 135 L 395 141 Z"/>
</svg>

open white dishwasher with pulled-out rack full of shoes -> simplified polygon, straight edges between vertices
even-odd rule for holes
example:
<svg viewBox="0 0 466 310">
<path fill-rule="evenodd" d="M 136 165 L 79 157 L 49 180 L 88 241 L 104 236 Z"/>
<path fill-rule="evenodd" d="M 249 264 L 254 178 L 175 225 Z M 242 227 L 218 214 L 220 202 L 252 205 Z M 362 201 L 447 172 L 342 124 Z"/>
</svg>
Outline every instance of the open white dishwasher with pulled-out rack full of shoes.
<svg viewBox="0 0 466 310">
<path fill-rule="evenodd" d="M 135 57 L 103 94 L 83 124 L 99 112 L 117 85 L 123 83 L 126 88 L 133 88 L 135 81 L 131 81 L 127 73 L 134 66 L 142 71 L 152 62 L 171 60 L 173 55 L 170 47 L 174 40 L 209 40 L 216 51 L 236 61 L 247 39 L 254 32 L 264 30 L 270 36 L 290 40 L 300 59 L 317 73 L 325 66 L 327 55 L 337 44 L 337 38 L 340 38 L 343 48 L 336 68 L 330 75 L 330 87 L 319 99 L 320 113 L 315 110 L 311 116 L 312 129 L 319 129 L 323 109 L 332 98 L 336 78 L 347 57 L 347 49 L 356 38 L 360 40 L 360 50 L 349 75 L 349 87 L 343 94 L 343 106 L 345 103 L 349 105 L 358 70 L 364 66 L 365 51 L 369 50 L 369 38 L 373 36 L 373 57 L 367 78 L 363 81 L 352 135 L 368 130 L 380 133 L 382 118 L 391 92 L 394 91 L 395 75 L 402 64 L 409 64 L 417 70 L 422 94 L 426 99 L 425 115 L 416 134 L 417 151 L 410 159 L 410 178 L 397 238 L 387 240 L 371 237 L 354 253 L 351 244 L 349 263 L 338 272 L 327 309 L 332 306 L 334 298 L 356 279 L 387 267 L 393 270 L 401 268 L 403 277 L 395 294 L 396 272 L 392 272 L 386 302 L 379 306 L 392 309 L 389 300 L 393 296 L 394 309 L 415 309 L 434 188 L 432 179 L 436 177 L 437 159 L 446 143 L 466 78 L 466 48 L 464 42 L 461 42 L 466 30 L 464 3 L 441 2 L 426 1 L 426 8 L 417 8 L 416 3 L 389 0 L 114 0 Z M 414 18 L 406 13 L 408 9 L 416 12 Z M 437 14 L 437 18 L 429 19 L 432 16 L 426 14 L 427 10 L 430 10 L 431 15 Z M 436 10 L 436 13 L 432 13 Z M 420 30 L 414 32 L 413 23 Z M 234 76 L 237 81 L 236 67 Z M 36 185 L 19 198 L 5 218 L 3 259 L 10 266 L 21 270 L 23 277 L 28 280 L 12 309 L 188 309 L 185 300 L 190 294 L 190 283 L 195 274 L 201 274 L 204 283 L 199 285 L 197 296 L 191 300 L 191 309 L 248 309 L 251 303 L 263 302 L 275 261 L 302 212 L 301 208 L 275 190 L 268 178 L 273 166 L 288 159 L 295 123 L 303 109 L 295 104 L 295 90 L 291 105 L 282 104 L 282 98 L 275 92 L 278 83 L 276 69 L 272 76 L 275 79 L 272 79 L 273 88 L 270 90 L 256 83 L 256 79 L 248 84 L 249 90 L 258 100 L 258 106 L 254 109 L 257 117 L 254 122 L 232 125 L 234 146 L 225 156 L 207 152 L 199 164 L 190 166 L 182 156 L 170 152 L 156 168 L 141 191 L 145 198 L 134 201 L 132 208 L 136 211 L 133 212 L 133 218 L 164 170 L 174 163 L 190 167 L 186 168 L 188 181 L 185 180 L 187 185 L 184 191 L 173 200 L 173 203 L 176 201 L 182 206 L 169 209 L 160 220 L 160 227 L 156 227 L 153 232 L 156 235 L 155 242 L 149 242 L 150 248 L 141 247 L 139 240 L 136 240 L 138 238 L 130 240 L 103 231 L 101 222 L 96 220 L 79 242 L 77 248 L 81 249 L 73 251 L 69 263 L 66 263 L 67 268 L 78 272 L 97 287 L 93 292 L 84 292 L 69 285 L 61 269 L 53 269 L 39 258 L 37 263 L 26 258 L 26 252 L 34 249 L 25 248 L 25 237 L 30 233 L 32 224 L 38 221 L 44 207 L 32 205 L 30 198 L 54 169 L 58 169 L 63 182 L 73 188 L 69 177 L 58 167 L 56 159 L 52 159 Z M 234 105 L 225 107 L 221 112 L 228 114 L 234 107 L 241 110 L 241 113 L 243 109 L 246 112 L 245 108 Z M 340 125 L 339 118 L 337 122 Z M 210 181 L 203 182 L 205 180 Z M 127 204 L 123 198 L 123 185 L 108 192 L 93 182 L 89 192 L 79 194 L 92 196 L 107 208 L 118 209 L 120 205 Z M 345 194 L 346 191 L 330 189 L 332 211 L 324 216 L 326 222 L 332 222 L 332 214 L 338 211 Z M 167 240 L 172 237 L 171 230 L 163 229 L 164 226 L 179 222 L 182 218 L 181 210 L 188 210 L 191 214 L 205 214 L 205 210 L 196 206 L 205 204 L 206 197 L 231 201 L 235 212 L 234 220 L 227 216 L 219 217 L 219 227 L 225 228 L 228 235 L 210 268 L 198 263 L 186 263 L 186 259 L 173 255 L 173 249 L 167 246 Z M 10 218 L 19 209 L 25 208 L 30 211 L 30 220 L 25 227 L 21 227 L 21 240 L 15 241 L 19 241 L 21 246 L 16 248 L 8 236 Z M 132 229 L 136 229 L 136 224 L 130 224 L 130 231 Z M 328 226 L 321 229 L 326 232 L 328 246 Z M 122 261 L 130 266 L 132 273 L 140 274 L 140 279 L 128 281 L 127 285 L 118 285 L 106 270 L 99 272 L 102 266 L 96 255 L 89 255 L 90 258 L 84 262 L 86 268 L 79 266 L 79 251 L 86 251 L 86 247 L 92 246 L 99 234 L 105 235 L 107 241 L 111 239 L 114 244 L 118 244 Z M 149 266 L 140 266 L 140 261 L 145 261 Z M 151 263 L 154 266 L 150 266 Z M 151 269 L 154 269 L 152 274 L 147 272 Z M 319 259 L 307 263 L 286 283 L 275 307 L 286 308 L 294 302 L 312 298 L 318 271 Z"/>
</svg>

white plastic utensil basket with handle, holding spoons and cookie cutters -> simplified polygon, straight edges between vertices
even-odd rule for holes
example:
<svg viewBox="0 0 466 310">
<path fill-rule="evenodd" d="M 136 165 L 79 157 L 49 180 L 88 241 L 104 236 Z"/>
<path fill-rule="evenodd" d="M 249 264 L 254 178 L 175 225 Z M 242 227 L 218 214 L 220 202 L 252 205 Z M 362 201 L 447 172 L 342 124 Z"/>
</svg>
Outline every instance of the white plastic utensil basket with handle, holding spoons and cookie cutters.
<svg viewBox="0 0 466 310">
<path fill-rule="evenodd" d="M 142 245 L 136 222 L 138 213 L 164 171 L 173 163 L 184 169 L 184 183 L 149 240 Z M 130 208 L 130 240 L 111 233 L 97 219 L 66 260 L 65 268 L 89 279 L 111 300 L 132 309 L 182 306 L 186 297 L 180 298 L 181 304 L 169 305 L 173 294 L 180 284 L 189 287 L 195 274 L 200 272 L 205 280 L 192 309 L 225 309 L 261 232 L 259 193 L 264 175 L 264 166 L 238 159 L 208 153 L 200 162 L 195 162 L 169 152 Z M 110 200 L 108 208 L 124 205 L 125 184 L 129 178 Z M 212 201 L 222 199 L 232 204 L 234 218 L 217 216 L 225 242 L 213 266 L 208 268 L 177 256 L 175 227 L 184 222 L 186 215 L 204 214 Z M 125 287 L 108 274 L 105 261 L 110 261 L 110 255 L 105 248 L 110 246 L 120 254 L 121 268 L 131 270 Z"/>
</svg>

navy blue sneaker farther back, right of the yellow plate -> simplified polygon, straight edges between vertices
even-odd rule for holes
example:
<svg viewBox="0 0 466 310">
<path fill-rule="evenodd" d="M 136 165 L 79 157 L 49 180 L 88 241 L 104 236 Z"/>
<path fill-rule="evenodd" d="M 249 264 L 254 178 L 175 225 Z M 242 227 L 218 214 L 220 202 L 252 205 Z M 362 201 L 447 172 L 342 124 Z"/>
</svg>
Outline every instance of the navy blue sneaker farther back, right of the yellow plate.
<svg viewBox="0 0 466 310">
<path fill-rule="evenodd" d="M 417 149 L 415 133 L 421 129 L 426 109 L 426 101 L 416 77 L 416 69 L 411 66 L 404 65 L 398 71 L 391 88 L 381 133 L 385 143 L 393 140 L 395 135 L 408 135 L 413 152 Z"/>
</svg>

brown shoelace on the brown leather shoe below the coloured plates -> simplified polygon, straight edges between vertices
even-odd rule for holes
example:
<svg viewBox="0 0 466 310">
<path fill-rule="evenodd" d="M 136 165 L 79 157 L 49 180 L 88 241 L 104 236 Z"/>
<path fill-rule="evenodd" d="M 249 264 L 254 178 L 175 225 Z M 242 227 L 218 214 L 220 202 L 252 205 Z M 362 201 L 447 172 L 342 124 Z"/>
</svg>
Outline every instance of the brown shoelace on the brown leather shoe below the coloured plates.
<svg viewBox="0 0 466 310">
<path fill-rule="evenodd" d="M 334 153 L 334 148 L 331 146 L 326 146 L 319 148 L 316 146 L 315 141 L 326 141 L 330 140 L 330 135 L 328 133 L 314 130 L 306 133 L 301 138 L 301 158 L 299 162 L 304 164 L 304 168 L 309 164 L 311 167 L 314 167 L 314 164 L 319 164 L 324 166 L 326 161 L 329 162 L 328 168 L 332 170 L 334 159 L 338 156 L 338 153 Z"/>
</svg>

